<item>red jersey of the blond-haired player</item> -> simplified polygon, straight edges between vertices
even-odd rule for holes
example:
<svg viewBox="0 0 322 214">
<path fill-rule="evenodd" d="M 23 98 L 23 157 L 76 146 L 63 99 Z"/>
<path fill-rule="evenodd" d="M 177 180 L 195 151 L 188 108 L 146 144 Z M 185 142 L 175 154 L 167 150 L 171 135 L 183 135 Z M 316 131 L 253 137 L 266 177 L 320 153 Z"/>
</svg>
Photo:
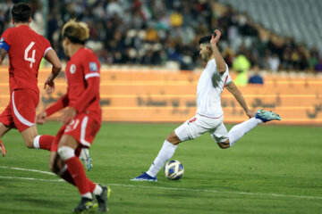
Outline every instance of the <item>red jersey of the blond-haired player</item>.
<svg viewBox="0 0 322 214">
<path fill-rule="evenodd" d="M 65 76 L 68 82 L 67 96 L 68 106 L 77 109 L 77 102 L 82 99 L 86 88 L 88 87 L 87 80 L 89 78 L 99 78 L 99 62 L 95 53 L 89 48 L 82 47 L 72 55 L 67 62 Z M 99 105 L 99 93 L 85 104 L 84 111 L 87 111 L 97 122 L 101 121 L 102 112 Z M 79 112 L 80 113 L 80 112 Z"/>
</svg>

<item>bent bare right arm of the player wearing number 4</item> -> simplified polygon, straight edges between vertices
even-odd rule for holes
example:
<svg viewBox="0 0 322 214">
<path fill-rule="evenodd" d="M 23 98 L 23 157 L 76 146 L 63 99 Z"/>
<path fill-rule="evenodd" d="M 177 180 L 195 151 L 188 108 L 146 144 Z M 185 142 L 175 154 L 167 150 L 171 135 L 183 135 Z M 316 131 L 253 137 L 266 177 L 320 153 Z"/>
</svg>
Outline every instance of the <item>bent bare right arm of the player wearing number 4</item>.
<svg viewBox="0 0 322 214">
<path fill-rule="evenodd" d="M 53 93 L 55 91 L 54 79 L 62 70 L 62 62 L 59 60 L 57 54 L 53 49 L 49 50 L 46 53 L 45 59 L 53 65 L 53 68 L 52 68 L 51 74 L 48 76 L 48 78 L 45 81 L 44 89 L 46 89 L 46 87 L 48 86 L 49 88 L 47 90 L 47 93 Z"/>
</svg>

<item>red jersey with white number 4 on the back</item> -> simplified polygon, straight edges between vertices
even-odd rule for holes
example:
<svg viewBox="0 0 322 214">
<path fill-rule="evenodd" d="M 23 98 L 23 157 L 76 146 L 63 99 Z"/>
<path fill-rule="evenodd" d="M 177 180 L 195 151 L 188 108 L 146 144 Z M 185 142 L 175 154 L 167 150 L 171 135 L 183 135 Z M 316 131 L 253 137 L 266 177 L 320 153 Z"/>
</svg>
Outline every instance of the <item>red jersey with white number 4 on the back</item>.
<svg viewBox="0 0 322 214">
<path fill-rule="evenodd" d="M 47 51 L 52 49 L 49 41 L 28 25 L 6 29 L 1 41 L 9 45 L 10 90 L 30 88 L 39 93 L 39 64 Z"/>
</svg>

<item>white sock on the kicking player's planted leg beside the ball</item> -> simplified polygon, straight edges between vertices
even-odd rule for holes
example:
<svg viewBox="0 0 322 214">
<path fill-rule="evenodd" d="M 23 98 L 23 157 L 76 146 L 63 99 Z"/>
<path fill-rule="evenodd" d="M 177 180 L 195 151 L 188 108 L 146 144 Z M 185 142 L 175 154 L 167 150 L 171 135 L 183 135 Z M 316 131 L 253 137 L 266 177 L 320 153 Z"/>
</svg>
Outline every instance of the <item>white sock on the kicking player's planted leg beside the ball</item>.
<svg viewBox="0 0 322 214">
<path fill-rule="evenodd" d="M 172 156 L 178 146 L 171 144 L 165 140 L 160 152 L 157 154 L 156 160 L 152 163 L 151 167 L 148 169 L 147 174 L 150 177 L 156 177 L 160 169 L 165 165 L 165 162 L 168 161 Z"/>
</svg>

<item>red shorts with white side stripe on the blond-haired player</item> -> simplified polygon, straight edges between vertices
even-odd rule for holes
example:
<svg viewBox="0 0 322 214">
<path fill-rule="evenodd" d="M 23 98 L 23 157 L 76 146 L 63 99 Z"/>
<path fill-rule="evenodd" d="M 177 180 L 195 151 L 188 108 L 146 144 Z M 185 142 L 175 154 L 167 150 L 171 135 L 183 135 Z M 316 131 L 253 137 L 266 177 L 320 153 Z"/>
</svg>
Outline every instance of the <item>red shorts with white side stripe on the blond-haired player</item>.
<svg viewBox="0 0 322 214">
<path fill-rule="evenodd" d="M 52 144 L 51 152 L 57 152 L 58 144 L 62 136 L 73 136 L 81 147 L 89 147 L 97 135 L 100 123 L 92 119 L 87 113 L 77 114 L 72 121 L 59 129 Z"/>
</svg>

